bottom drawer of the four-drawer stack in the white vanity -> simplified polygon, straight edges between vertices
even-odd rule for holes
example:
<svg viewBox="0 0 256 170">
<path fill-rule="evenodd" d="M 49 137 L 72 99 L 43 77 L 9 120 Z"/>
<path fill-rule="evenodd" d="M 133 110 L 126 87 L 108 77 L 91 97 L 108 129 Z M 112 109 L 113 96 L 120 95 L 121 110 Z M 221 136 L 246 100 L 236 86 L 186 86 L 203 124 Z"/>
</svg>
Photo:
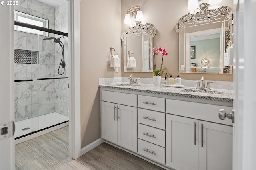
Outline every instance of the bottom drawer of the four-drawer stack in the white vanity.
<svg viewBox="0 0 256 170">
<path fill-rule="evenodd" d="M 138 139 L 138 153 L 162 164 L 165 163 L 165 149 L 158 145 Z"/>
</svg>

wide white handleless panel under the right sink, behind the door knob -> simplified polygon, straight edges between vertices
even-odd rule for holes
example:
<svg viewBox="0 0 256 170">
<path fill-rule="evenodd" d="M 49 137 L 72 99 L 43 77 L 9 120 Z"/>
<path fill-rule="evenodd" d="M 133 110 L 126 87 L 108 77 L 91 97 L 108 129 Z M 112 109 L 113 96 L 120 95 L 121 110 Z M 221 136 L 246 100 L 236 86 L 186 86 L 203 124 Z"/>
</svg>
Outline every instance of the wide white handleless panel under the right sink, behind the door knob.
<svg viewBox="0 0 256 170">
<path fill-rule="evenodd" d="M 227 112 L 232 111 L 232 107 L 228 106 L 166 99 L 166 113 L 232 126 L 230 119 L 219 119 L 220 109 L 225 109 Z"/>
</svg>

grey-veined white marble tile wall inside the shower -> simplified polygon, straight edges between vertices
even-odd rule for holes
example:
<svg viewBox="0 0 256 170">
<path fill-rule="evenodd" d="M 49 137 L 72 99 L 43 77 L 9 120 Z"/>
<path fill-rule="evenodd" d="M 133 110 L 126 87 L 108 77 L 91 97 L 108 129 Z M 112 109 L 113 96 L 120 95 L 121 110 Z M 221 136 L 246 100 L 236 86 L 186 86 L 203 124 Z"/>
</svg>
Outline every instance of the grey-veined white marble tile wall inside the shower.
<svg viewBox="0 0 256 170">
<path fill-rule="evenodd" d="M 35 0 L 19 0 L 19 6 L 15 6 L 14 10 L 48 19 L 49 28 L 55 29 L 54 7 Z M 49 37 L 54 36 L 54 34 L 49 33 Z M 39 64 L 14 64 L 15 80 L 33 79 L 30 82 L 15 82 L 15 121 L 57 112 L 56 107 L 68 105 L 66 104 L 68 92 L 64 93 L 62 91 L 67 90 L 68 84 L 64 82 L 68 82 L 68 79 L 36 80 L 37 78 L 58 76 L 56 68 L 60 59 L 55 57 L 58 55 L 58 51 L 56 51 L 58 44 L 50 40 L 43 41 L 43 38 L 43 36 L 35 34 L 14 31 L 15 49 L 39 51 Z M 68 68 L 65 69 L 65 72 L 67 70 Z M 66 103 L 60 104 L 62 101 Z M 68 108 L 58 109 L 58 113 L 68 115 Z"/>
</svg>

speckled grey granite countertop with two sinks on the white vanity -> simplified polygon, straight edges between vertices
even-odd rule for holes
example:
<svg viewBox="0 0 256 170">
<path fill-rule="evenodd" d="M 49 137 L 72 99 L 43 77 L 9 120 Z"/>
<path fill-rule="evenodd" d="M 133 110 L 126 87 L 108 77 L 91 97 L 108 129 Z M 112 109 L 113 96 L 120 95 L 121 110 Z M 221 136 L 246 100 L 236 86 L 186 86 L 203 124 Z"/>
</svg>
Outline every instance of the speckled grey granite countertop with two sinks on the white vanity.
<svg viewBox="0 0 256 170">
<path fill-rule="evenodd" d="M 101 84 L 100 88 L 111 88 L 118 90 L 128 90 L 134 92 L 146 92 L 152 94 L 165 94 L 170 96 L 182 96 L 188 98 L 199 98 L 206 100 L 216 100 L 224 102 L 233 102 L 233 90 L 225 89 L 212 89 L 212 90 L 197 90 L 196 88 L 183 86 L 177 87 L 166 87 L 166 86 L 154 86 L 153 84 L 138 84 L 130 85 L 129 83 L 112 83 L 112 84 Z M 194 92 L 191 92 L 194 91 Z"/>
</svg>

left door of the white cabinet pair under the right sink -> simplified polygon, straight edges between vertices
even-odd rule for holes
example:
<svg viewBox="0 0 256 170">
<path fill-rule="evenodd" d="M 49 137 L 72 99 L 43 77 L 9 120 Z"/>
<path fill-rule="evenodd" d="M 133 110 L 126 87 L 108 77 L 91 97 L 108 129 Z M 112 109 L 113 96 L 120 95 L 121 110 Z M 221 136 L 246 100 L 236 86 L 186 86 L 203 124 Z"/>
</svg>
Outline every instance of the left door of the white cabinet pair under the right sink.
<svg viewBox="0 0 256 170">
<path fill-rule="evenodd" d="M 166 114 L 167 166 L 177 170 L 199 170 L 198 122 Z"/>
</svg>

